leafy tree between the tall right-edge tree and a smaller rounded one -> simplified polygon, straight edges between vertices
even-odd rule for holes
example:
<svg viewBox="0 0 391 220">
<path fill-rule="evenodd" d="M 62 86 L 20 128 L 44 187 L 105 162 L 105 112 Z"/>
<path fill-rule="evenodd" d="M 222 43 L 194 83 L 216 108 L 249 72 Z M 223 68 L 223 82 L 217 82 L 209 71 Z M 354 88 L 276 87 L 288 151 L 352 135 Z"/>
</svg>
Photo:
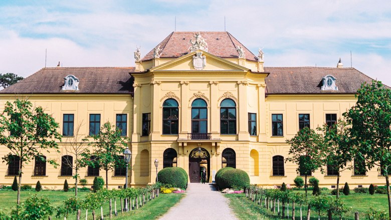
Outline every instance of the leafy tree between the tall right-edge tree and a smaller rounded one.
<svg viewBox="0 0 391 220">
<path fill-rule="evenodd" d="M 327 151 L 324 157 L 324 164 L 334 168 L 337 171 L 337 199 L 339 198 L 339 176 L 340 172 L 346 169 L 352 169 L 353 160 L 356 154 L 356 147 L 354 146 L 354 137 L 350 135 L 351 124 L 343 119 L 338 119 L 331 127 L 323 124 L 317 129 L 322 132 Z"/>
</svg>

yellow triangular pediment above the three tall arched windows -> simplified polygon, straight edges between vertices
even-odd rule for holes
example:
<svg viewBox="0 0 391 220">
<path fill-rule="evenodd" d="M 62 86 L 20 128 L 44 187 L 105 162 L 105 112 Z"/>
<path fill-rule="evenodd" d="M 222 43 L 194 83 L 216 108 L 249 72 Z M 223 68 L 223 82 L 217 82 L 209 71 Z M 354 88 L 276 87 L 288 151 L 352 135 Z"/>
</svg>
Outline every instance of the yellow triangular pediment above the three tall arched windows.
<svg viewBox="0 0 391 220">
<path fill-rule="evenodd" d="M 205 56 L 205 66 L 202 69 L 196 69 L 193 65 L 193 57 L 199 57 L 197 52 L 202 52 Z M 197 60 L 202 62 L 202 60 Z M 200 63 L 199 63 L 200 64 Z M 202 66 L 202 63 L 200 64 Z M 229 60 L 220 58 L 203 50 L 190 52 L 186 55 L 173 59 L 169 62 L 155 66 L 150 71 L 243 71 L 247 72 L 249 69 L 233 63 Z"/>
</svg>

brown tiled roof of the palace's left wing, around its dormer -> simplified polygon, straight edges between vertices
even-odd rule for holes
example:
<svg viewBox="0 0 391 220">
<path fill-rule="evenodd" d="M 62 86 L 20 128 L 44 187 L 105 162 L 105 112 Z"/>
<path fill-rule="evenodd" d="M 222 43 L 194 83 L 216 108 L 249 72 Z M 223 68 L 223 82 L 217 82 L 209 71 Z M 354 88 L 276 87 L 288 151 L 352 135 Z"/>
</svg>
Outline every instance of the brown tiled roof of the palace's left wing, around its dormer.
<svg viewBox="0 0 391 220">
<path fill-rule="evenodd" d="M 133 93 L 134 67 L 58 67 L 42 68 L 0 93 Z M 78 91 L 63 91 L 67 75 L 79 78 Z"/>
</svg>

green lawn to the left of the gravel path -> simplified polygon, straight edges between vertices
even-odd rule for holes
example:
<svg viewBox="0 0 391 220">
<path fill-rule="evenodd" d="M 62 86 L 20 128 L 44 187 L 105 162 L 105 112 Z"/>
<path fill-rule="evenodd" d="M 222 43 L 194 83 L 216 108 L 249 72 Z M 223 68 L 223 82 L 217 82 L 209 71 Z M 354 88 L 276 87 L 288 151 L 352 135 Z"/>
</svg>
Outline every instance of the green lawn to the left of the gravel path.
<svg viewBox="0 0 391 220">
<path fill-rule="evenodd" d="M 87 193 L 92 192 L 78 192 L 79 198 L 84 198 Z M 75 195 L 75 192 L 64 192 L 64 191 L 22 191 L 21 192 L 21 201 L 26 200 L 27 197 L 37 194 L 39 197 L 47 197 L 51 201 L 51 205 L 55 207 L 55 212 L 57 211 L 57 206 L 62 205 L 63 201 L 71 196 Z M 131 210 L 129 212 L 124 212 L 121 214 L 121 205 L 119 199 L 117 199 L 117 211 L 118 217 L 113 219 L 156 219 L 157 217 L 163 215 L 167 210 L 176 204 L 182 197 L 183 193 L 169 193 L 169 194 L 160 194 L 159 197 L 152 199 L 144 206 Z M 10 209 L 16 207 L 17 192 L 16 191 L 1 191 L 0 190 L 0 210 L 4 212 L 10 212 Z M 112 203 L 114 211 L 114 201 Z M 100 219 L 100 209 L 95 211 L 97 219 Z M 105 216 L 109 215 L 109 203 L 107 202 L 103 206 L 103 214 Z M 55 215 L 55 214 L 54 214 Z M 92 219 L 92 212 L 88 210 L 88 219 Z M 81 211 L 81 219 L 85 219 L 86 210 Z M 114 216 L 114 214 L 113 214 Z M 68 219 L 76 219 L 76 215 L 72 214 L 68 216 Z"/>
</svg>

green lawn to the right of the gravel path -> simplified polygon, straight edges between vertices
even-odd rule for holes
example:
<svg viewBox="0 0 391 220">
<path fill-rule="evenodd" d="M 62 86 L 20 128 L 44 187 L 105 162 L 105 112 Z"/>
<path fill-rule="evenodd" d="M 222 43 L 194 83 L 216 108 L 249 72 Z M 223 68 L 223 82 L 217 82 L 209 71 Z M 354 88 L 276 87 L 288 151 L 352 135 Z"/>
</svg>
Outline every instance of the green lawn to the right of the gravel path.
<svg viewBox="0 0 391 220">
<path fill-rule="evenodd" d="M 239 219 L 281 219 L 277 216 L 277 213 L 274 214 L 270 210 L 266 210 L 262 206 L 258 205 L 257 202 L 252 202 L 246 198 L 245 194 L 226 194 L 226 197 L 230 199 L 230 206 L 236 216 Z M 360 218 L 364 219 L 365 212 L 369 210 L 369 207 L 375 209 L 388 210 L 387 195 L 386 194 L 351 194 L 351 195 L 341 195 L 348 207 L 351 207 L 351 211 L 347 212 L 343 219 L 354 219 L 354 212 L 358 211 L 360 213 Z M 282 204 L 280 202 L 280 212 Z M 277 210 L 277 208 L 276 208 Z M 277 212 L 277 211 L 276 211 Z M 307 207 L 303 205 L 302 207 L 303 219 L 307 215 Z M 292 216 L 292 205 L 289 205 L 289 216 Z M 295 209 L 295 219 L 300 219 L 300 206 L 296 204 Z M 317 213 L 311 210 L 311 219 L 318 219 Z M 327 216 L 324 216 L 321 219 L 327 219 Z M 334 218 L 333 218 L 334 219 Z M 335 217 L 337 219 L 337 217 Z"/>
</svg>

